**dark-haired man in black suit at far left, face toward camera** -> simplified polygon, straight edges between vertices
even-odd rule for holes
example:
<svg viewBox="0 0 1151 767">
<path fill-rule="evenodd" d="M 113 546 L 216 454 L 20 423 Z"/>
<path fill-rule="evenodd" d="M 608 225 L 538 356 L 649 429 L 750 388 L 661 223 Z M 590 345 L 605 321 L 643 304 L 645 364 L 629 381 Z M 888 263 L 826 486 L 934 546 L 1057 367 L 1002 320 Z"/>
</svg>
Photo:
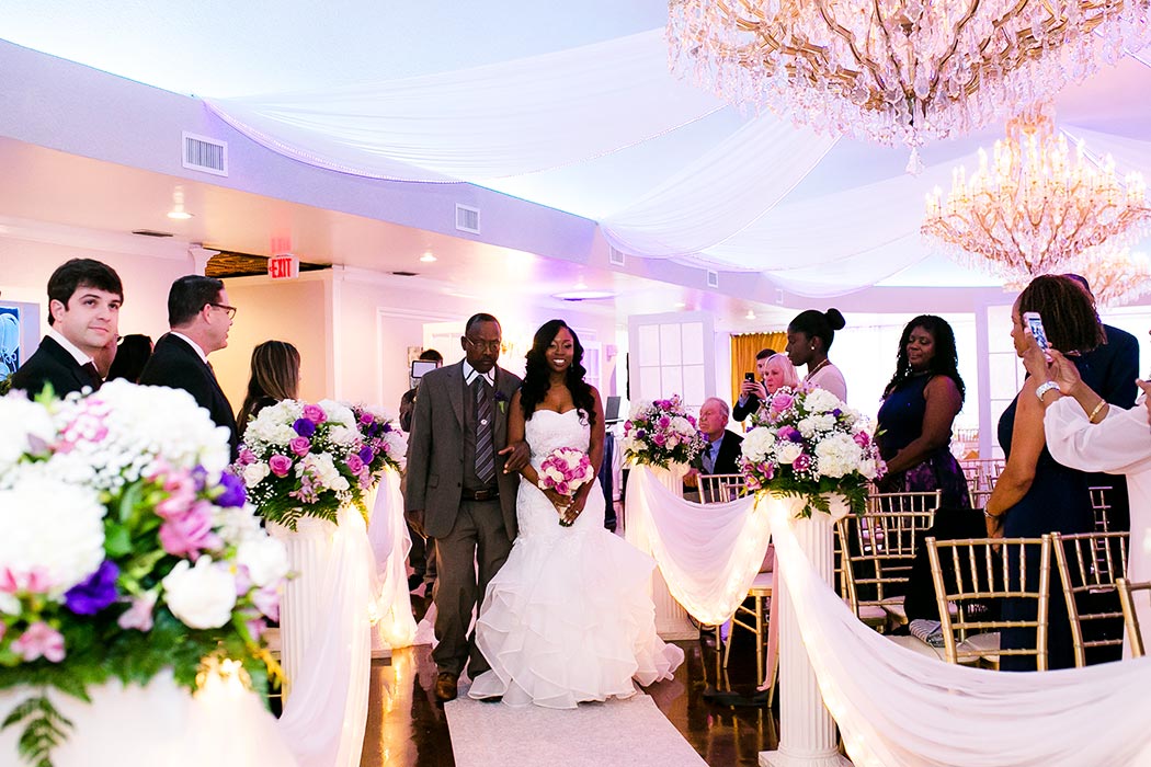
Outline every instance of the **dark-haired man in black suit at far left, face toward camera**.
<svg viewBox="0 0 1151 767">
<path fill-rule="evenodd" d="M 115 344 L 124 287 L 120 275 L 93 259 L 73 259 L 48 278 L 48 332 L 36 353 L 12 376 L 12 388 L 58 397 L 104 383 L 94 359 Z"/>
</svg>

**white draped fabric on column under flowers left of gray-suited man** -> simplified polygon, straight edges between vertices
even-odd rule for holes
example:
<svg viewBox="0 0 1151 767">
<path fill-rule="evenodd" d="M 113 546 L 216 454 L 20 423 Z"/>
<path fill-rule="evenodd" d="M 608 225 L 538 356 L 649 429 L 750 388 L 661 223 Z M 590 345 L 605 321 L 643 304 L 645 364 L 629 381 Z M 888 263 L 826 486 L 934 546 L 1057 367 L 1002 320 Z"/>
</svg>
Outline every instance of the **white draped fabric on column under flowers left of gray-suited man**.
<svg viewBox="0 0 1151 767">
<path fill-rule="evenodd" d="M 280 605 L 280 729 L 300 767 L 357 767 L 364 746 L 375 559 L 359 509 L 345 506 L 337 519 L 304 517 L 295 532 L 267 526 L 297 573 Z"/>
</svg>

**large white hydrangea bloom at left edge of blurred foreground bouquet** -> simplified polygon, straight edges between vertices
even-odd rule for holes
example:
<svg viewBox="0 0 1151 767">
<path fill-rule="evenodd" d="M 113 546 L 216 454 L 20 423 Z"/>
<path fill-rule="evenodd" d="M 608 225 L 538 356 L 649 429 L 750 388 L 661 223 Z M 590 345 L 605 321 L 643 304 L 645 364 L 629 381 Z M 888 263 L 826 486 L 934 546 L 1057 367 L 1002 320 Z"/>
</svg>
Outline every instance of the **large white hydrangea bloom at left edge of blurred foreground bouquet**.
<svg viewBox="0 0 1151 767">
<path fill-rule="evenodd" d="M 23 467 L 0 490 L 0 570 L 37 568 L 60 597 L 104 561 L 104 515 L 96 489 L 60 481 L 47 463 Z"/>
</svg>

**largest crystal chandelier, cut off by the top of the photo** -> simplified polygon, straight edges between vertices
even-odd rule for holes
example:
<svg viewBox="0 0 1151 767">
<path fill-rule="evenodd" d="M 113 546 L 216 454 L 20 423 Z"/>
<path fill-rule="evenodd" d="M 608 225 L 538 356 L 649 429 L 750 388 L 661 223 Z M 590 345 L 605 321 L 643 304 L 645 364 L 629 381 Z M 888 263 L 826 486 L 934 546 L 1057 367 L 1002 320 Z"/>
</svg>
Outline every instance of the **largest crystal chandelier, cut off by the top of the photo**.
<svg viewBox="0 0 1151 767">
<path fill-rule="evenodd" d="M 670 0 L 672 70 L 740 107 L 920 146 L 1114 63 L 1151 0 Z"/>
</svg>

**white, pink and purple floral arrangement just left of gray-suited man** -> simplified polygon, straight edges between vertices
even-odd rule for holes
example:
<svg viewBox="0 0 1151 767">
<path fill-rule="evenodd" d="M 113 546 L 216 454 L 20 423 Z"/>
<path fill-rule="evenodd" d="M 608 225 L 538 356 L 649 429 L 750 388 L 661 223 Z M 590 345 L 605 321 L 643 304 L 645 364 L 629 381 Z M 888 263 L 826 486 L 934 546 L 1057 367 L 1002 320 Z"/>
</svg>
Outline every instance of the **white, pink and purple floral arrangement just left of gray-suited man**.
<svg viewBox="0 0 1151 767">
<path fill-rule="evenodd" d="M 336 523 L 346 504 L 367 519 L 367 492 L 386 467 L 402 468 L 405 452 L 403 432 L 381 413 L 285 399 L 247 424 L 233 471 L 264 519 L 295 530 L 302 516 Z"/>
</svg>

